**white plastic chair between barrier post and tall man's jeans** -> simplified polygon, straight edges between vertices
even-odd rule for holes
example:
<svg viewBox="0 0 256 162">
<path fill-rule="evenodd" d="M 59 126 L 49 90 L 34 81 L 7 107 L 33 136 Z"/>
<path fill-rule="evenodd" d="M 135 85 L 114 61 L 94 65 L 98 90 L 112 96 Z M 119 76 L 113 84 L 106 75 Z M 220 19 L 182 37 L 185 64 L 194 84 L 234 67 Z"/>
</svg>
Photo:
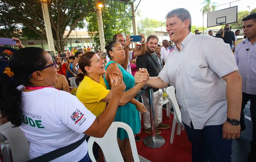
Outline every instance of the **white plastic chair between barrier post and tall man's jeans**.
<svg viewBox="0 0 256 162">
<path fill-rule="evenodd" d="M 175 88 L 173 86 L 168 87 L 166 89 L 166 93 L 169 96 L 169 99 L 170 99 L 170 102 L 172 103 L 173 111 L 174 111 L 174 117 L 172 122 L 172 133 L 171 133 L 171 140 L 170 140 L 170 143 L 172 144 L 176 123 L 178 123 L 177 135 L 180 135 L 181 127 L 182 127 L 182 130 L 184 130 L 184 125 L 181 122 L 181 113 L 180 113 L 180 108 L 175 96 Z"/>
</svg>

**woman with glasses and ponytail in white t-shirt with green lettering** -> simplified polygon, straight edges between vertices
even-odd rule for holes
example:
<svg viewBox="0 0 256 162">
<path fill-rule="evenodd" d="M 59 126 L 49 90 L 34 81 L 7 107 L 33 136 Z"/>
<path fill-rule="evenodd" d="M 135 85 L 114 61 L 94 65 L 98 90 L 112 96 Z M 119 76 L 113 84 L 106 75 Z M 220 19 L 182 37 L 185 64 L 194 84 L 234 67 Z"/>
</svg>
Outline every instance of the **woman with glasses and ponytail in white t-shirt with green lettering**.
<svg viewBox="0 0 256 162">
<path fill-rule="evenodd" d="M 52 86 L 58 81 L 57 65 L 41 48 L 19 49 L 0 77 L 0 111 L 14 126 L 20 126 L 30 142 L 29 156 L 36 158 L 82 139 L 84 134 L 103 137 L 111 125 L 125 85 L 113 84 L 112 97 L 100 116 L 94 116 L 76 96 Z M 10 77 L 24 85 L 15 87 Z M 87 162 L 87 143 L 52 161 Z"/>
</svg>

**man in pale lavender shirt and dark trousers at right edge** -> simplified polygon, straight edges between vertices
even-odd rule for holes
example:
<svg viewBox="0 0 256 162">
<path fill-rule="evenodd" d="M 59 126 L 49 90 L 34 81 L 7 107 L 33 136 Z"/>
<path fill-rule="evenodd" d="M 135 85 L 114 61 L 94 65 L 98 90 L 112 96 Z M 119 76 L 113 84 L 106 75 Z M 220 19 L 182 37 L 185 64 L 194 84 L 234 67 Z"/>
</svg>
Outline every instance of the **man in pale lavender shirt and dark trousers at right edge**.
<svg viewBox="0 0 256 162">
<path fill-rule="evenodd" d="M 256 13 L 242 19 L 244 35 L 247 37 L 235 48 L 236 64 L 242 76 L 242 111 L 241 130 L 245 130 L 244 107 L 250 100 L 250 113 L 252 119 L 251 151 L 248 155 L 249 162 L 256 159 Z"/>
</svg>

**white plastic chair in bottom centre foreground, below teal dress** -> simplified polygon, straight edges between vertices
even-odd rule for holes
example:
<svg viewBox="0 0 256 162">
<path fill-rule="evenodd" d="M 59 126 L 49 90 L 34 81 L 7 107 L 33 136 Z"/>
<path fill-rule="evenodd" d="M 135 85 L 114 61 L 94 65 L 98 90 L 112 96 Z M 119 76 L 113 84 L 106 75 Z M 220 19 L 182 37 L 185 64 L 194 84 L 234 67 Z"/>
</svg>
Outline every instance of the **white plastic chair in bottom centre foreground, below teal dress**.
<svg viewBox="0 0 256 162">
<path fill-rule="evenodd" d="M 117 128 L 123 128 L 124 130 L 126 130 L 129 137 L 130 144 L 131 144 L 134 162 L 140 162 L 132 128 L 128 124 L 123 122 L 113 122 L 108 128 L 108 131 L 106 132 L 104 137 L 102 138 L 96 138 L 96 137 L 89 138 L 87 142 L 88 154 L 92 162 L 96 162 L 92 153 L 92 145 L 94 142 L 96 142 L 100 146 L 106 162 L 115 162 L 115 161 L 124 162 L 124 159 L 121 155 L 121 152 L 117 143 Z"/>
</svg>

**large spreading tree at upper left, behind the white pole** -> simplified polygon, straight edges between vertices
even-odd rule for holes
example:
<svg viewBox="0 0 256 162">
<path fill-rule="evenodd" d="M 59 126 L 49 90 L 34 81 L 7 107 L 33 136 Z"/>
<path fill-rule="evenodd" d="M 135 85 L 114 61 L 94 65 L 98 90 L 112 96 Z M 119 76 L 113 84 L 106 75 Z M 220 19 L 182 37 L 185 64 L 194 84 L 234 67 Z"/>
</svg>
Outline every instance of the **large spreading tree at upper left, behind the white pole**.
<svg viewBox="0 0 256 162">
<path fill-rule="evenodd" d="M 81 3 L 80 3 L 81 2 Z M 52 35 L 55 49 L 64 52 L 65 41 L 76 27 L 83 28 L 84 18 L 89 11 L 60 8 L 66 6 L 72 8 L 90 9 L 88 0 L 47 0 L 50 15 Z M 27 39 L 46 39 L 44 18 L 39 0 L 26 0 L 18 2 L 12 0 L 0 1 L 0 36 L 24 37 Z M 70 27 L 68 35 L 63 38 L 64 32 Z"/>
</svg>

